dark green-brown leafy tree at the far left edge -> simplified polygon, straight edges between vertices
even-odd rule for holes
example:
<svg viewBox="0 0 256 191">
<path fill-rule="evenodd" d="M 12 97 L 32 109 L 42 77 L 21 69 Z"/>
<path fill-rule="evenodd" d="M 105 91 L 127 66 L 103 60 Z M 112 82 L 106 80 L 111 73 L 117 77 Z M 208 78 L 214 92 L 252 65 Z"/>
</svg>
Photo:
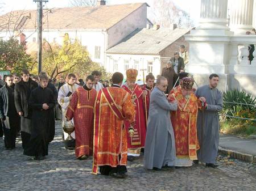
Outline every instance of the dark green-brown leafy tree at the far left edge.
<svg viewBox="0 0 256 191">
<path fill-rule="evenodd" d="M 0 40 L 0 70 L 9 70 L 19 73 L 31 63 L 31 58 L 26 54 L 25 46 L 16 39 Z"/>
</svg>

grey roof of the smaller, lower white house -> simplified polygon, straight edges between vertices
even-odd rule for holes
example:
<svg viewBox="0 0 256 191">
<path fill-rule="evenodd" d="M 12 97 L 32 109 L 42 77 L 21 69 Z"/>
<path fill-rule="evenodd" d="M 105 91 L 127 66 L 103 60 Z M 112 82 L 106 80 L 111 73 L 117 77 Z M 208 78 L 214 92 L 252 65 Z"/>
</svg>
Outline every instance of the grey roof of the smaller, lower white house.
<svg viewBox="0 0 256 191">
<path fill-rule="evenodd" d="M 170 28 L 136 29 L 106 52 L 113 54 L 159 54 L 190 30 L 190 28 L 176 28 L 174 30 Z"/>
</svg>

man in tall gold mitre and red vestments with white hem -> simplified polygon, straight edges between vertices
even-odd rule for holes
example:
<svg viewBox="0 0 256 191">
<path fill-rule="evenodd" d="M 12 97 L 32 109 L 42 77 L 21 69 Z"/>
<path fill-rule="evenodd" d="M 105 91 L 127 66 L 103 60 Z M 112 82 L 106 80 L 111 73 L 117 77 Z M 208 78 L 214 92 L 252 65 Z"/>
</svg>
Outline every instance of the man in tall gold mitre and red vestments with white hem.
<svg viewBox="0 0 256 191">
<path fill-rule="evenodd" d="M 144 117 L 144 101 L 143 97 L 147 94 L 143 91 L 138 84 L 136 84 L 136 78 L 138 71 L 135 69 L 128 69 L 126 71 L 126 84 L 122 86 L 126 90 L 133 100 L 135 106 L 135 118 L 134 118 L 134 136 L 127 136 L 128 143 L 128 158 L 127 160 L 133 161 L 141 155 L 141 148 L 144 147 L 146 139 L 146 123 Z M 129 121 L 125 121 L 126 130 L 131 126 Z"/>
</svg>

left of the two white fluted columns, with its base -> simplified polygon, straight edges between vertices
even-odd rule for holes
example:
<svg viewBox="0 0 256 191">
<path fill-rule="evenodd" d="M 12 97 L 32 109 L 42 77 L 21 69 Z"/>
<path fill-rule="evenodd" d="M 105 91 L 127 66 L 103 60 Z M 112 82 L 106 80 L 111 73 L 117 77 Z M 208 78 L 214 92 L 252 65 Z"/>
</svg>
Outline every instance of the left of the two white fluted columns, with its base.
<svg viewBox="0 0 256 191">
<path fill-rule="evenodd" d="M 229 30 L 227 7 L 228 0 L 201 0 L 200 26 L 197 29 Z"/>
</svg>

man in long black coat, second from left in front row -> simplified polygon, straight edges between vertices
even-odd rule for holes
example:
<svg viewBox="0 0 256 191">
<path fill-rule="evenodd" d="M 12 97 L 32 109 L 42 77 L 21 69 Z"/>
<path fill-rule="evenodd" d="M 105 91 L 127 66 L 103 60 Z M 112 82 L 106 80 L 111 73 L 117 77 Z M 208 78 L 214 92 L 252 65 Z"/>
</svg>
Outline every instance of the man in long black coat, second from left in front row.
<svg viewBox="0 0 256 191">
<path fill-rule="evenodd" d="M 30 140 L 31 134 L 31 109 L 28 108 L 28 99 L 31 91 L 38 87 L 38 83 L 33 81 L 28 70 L 24 69 L 21 72 L 22 79 L 15 84 L 14 101 L 16 111 L 20 116 L 20 129 L 22 138 L 22 147 L 26 147 Z"/>
</svg>

